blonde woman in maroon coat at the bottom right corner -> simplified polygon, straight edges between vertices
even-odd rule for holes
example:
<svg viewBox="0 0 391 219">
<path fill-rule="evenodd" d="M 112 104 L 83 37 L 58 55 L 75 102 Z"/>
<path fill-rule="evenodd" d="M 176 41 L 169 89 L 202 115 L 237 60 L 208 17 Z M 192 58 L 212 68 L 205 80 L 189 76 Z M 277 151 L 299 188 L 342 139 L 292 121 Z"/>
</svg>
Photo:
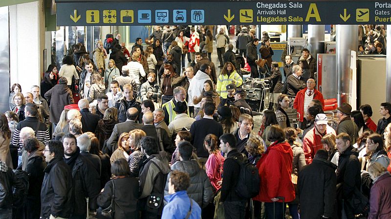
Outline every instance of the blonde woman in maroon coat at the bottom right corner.
<svg viewBox="0 0 391 219">
<path fill-rule="evenodd" d="M 370 188 L 368 219 L 389 219 L 391 212 L 391 175 L 379 163 L 370 164 L 368 172 L 373 180 Z"/>
</svg>

